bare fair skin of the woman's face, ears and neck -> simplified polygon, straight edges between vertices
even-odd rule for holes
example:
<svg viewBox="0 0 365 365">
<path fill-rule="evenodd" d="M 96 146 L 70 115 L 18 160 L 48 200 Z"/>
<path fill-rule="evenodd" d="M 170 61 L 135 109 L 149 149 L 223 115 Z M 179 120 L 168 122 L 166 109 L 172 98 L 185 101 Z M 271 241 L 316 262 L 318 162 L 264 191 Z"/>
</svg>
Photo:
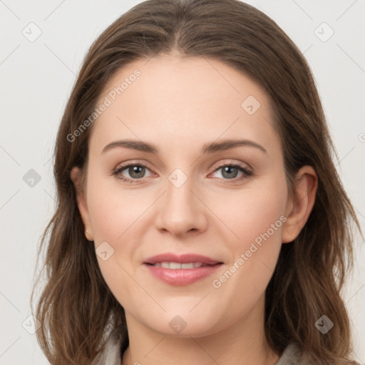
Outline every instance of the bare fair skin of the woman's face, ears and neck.
<svg viewBox="0 0 365 365">
<path fill-rule="evenodd" d="M 86 185 L 78 183 L 78 168 L 71 173 L 86 237 L 96 248 L 106 241 L 114 250 L 106 261 L 97 258 L 125 309 L 130 346 L 122 364 L 274 364 L 280 354 L 264 336 L 264 292 L 280 247 L 307 222 L 317 175 L 304 166 L 290 194 L 269 98 L 245 74 L 212 59 L 160 55 L 120 69 L 100 100 L 135 68 L 141 76 L 94 122 Z M 252 115 L 241 106 L 247 96 L 261 104 Z M 127 138 L 153 143 L 159 152 L 102 153 L 108 143 Z M 267 153 L 250 145 L 200 153 L 205 143 L 237 138 Z M 128 168 L 119 177 L 138 183 L 113 175 L 122 163 L 145 165 L 143 178 Z M 241 163 L 252 175 L 239 180 L 245 176 L 240 170 L 228 177 L 217 170 L 229 163 Z M 187 177 L 180 187 L 168 179 L 176 168 Z M 213 287 L 212 280 L 281 216 L 286 222 L 230 279 Z M 193 252 L 224 264 L 210 277 L 172 286 L 142 265 L 163 252 Z M 169 326 L 177 315 L 187 324 L 180 333 Z"/>
</svg>

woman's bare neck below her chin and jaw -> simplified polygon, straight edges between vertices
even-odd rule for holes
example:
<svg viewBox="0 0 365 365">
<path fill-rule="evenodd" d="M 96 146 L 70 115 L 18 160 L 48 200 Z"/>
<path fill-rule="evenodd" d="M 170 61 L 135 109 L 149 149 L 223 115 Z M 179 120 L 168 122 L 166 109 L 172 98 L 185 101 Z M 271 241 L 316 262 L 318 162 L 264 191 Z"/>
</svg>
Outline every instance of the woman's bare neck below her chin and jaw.
<svg viewBox="0 0 365 365">
<path fill-rule="evenodd" d="M 253 312 L 221 331 L 199 337 L 160 334 L 126 313 L 129 346 L 122 365 L 274 365 L 279 355 L 264 336 L 263 311 Z"/>
</svg>

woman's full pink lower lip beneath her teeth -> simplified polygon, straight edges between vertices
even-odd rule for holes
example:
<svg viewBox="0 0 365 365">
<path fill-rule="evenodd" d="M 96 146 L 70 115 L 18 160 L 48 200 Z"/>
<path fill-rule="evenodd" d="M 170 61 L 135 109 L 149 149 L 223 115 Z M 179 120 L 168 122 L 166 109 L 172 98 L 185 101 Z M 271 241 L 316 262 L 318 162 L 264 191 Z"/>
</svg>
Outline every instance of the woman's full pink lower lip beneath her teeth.
<svg viewBox="0 0 365 365">
<path fill-rule="evenodd" d="M 213 274 L 222 264 L 196 267 L 195 269 L 165 269 L 144 264 L 154 277 L 171 285 L 188 285 Z"/>
</svg>

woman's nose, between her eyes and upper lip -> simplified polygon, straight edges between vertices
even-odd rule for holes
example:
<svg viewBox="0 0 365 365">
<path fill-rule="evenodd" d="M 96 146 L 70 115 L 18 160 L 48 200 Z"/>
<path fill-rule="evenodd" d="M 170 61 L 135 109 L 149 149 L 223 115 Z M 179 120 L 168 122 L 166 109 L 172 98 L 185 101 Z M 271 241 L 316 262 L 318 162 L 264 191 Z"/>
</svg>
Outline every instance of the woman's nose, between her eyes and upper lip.
<svg viewBox="0 0 365 365">
<path fill-rule="evenodd" d="M 183 177 L 180 175 L 178 178 Z M 158 230 L 180 237 L 204 232 L 207 229 L 208 209 L 199 197 L 199 187 L 192 178 L 187 178 L 181 186 L 176 180 L 167 180 L 166 190 L 155 218 Z"/>
</svg>

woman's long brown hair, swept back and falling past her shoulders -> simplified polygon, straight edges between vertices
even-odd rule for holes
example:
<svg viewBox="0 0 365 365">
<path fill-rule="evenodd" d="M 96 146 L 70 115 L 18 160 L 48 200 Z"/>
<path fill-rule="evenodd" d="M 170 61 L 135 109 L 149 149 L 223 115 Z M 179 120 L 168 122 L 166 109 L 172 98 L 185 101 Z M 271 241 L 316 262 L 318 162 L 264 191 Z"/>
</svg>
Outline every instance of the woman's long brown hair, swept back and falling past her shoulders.
<svg viewBox="0 0 365 365">
<path fill-rule="evenodd" d="M 293 340 L 316 364 L 349 364 L 353 344 L 341 289 L 353 266 L 350 223 L 360 230 L 359 222 L 336 173 L 336 152 L 307 61 L 272 19 L 238 0 L 144 1 L 114 21 L 88 51 L 58 130 L 56 212 L 38 251 L 39 260 L 46 248 L 37 279 L 39 284 L 44 274 L 46 285 L 34 315 L 42 324 L 36 334 L 48 361 L 90 364 L 117 326 L 128 345 L 124 309 L 84 236 L 70 178 L 74 166 L 86 166 L 93 125 L 70 136 L 93 113 L 118 69 L 160 53 L 215 58 L 251 77 L 271 99 L 289 187 L 303 165 L 316 171 L 314 208 L 299 236 L 282 245 L 266 290 L 265 334 L 277 354 Z M 324 314 L 334 322 L 325 335 L 314 326 Z"/>
</svg>

